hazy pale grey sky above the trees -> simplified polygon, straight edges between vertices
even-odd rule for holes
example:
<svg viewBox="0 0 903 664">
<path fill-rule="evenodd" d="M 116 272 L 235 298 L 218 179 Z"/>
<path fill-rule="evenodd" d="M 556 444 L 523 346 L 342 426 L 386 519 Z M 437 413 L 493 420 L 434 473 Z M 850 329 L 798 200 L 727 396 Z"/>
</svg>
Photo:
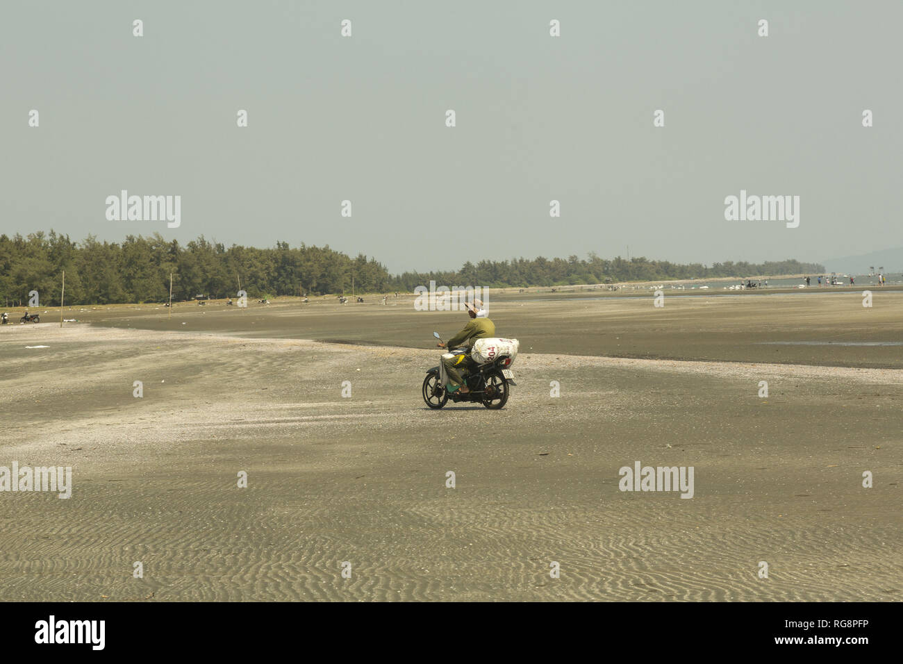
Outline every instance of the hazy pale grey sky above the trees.
<svg viewBox="0 0 903 664">
<path fill-rule="evenodd" d="M 283 239 L 392 272 L 898 247 L 901 24 L 898 0 L 4 0 L 0 232 Z M 180 228 L 108 221 L 122 189 L 181 195 Z M 798 195 L 799 227 L 724 220 L 741 189 Z"/>
</svg>

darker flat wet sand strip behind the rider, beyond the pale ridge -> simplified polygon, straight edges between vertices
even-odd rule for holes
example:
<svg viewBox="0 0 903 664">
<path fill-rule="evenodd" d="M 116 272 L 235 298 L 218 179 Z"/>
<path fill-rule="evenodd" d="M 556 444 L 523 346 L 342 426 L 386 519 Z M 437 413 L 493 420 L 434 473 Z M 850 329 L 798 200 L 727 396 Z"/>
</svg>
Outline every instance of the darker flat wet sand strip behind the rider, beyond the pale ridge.
<svg viewBox="0 0 903 664">
<path fill-rule="evenodd" d="M 383 306 L 301 304 L 235 306 L 178 304 L 172 320 L 159 305 L 112 306 L 67 318 L 122 328 L 214 332 L 241 336 L 433 347 L 433 330 L 449 338 L 463 327 L 461 312 L 417 312 L 413 297 Z M 501 295 L 490 303 L 499 335 L 517 337 L 522 351 L 669 360 L 721 360 L 903 369 L 903 291 L 686 295 Z M 50 310 L 59 321 L 59 309 Z M 18 318 L 21 313 L 16 314 Z M 55 317 L 52 317 L 54 316 Z M 184 324 L 182 324 L 184 323 Z M 817 342 L 818 345 L 812 345 Z"/>
</svg>

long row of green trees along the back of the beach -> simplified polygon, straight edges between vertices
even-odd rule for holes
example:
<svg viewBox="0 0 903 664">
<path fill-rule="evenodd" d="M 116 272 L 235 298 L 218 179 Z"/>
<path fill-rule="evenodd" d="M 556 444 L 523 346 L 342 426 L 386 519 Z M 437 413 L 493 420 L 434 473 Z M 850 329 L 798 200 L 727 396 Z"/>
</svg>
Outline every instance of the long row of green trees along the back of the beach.
<svg viewBox="0 0 903 664">
<path fill-rule="evenodd" d="M 203 236 L 182 246 L 159 233 L 129 235 L 123 242 L 80 242 L 53 230 L 7 237 L 0 235 L 0 297 L 5 303 L 28 301 L 36 290 L 44 304 L 60 304 L 61 272 L 66 272 L 68 304 L 120 304 L 188 300 L 196 295 L 235 296 L 241 288 L 251 297 L 412 292 L 418 285 L 479 285 L 492 288 L 665 281 L 717 276 L 819 274 L 824 266 L 796 260 L 681 265 L 634 257 L 536 257 L 465 263 L 457 272 L 405 272 L 390 275 L 376 258 L 302 244 L 275 248 L 225 247 Z"/>
</svg>

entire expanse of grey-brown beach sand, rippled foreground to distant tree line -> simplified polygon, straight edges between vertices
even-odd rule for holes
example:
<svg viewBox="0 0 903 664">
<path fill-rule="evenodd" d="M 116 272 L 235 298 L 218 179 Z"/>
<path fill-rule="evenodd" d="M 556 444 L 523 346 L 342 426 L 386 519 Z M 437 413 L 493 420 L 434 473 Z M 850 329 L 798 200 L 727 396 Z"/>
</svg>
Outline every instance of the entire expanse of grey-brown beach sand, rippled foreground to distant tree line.
<svg viewBox="0 0 903 664">
<path fill-rule="evenodd" d="M 900 349 L 736 343 L 749 324 L 899 340 L 903 297 L 880 295 L 499 303 L 523 345 L 497 412 L 424 407 L 429 335 L 461 313 L 195 304 L 6 326 L 0 465 L 70 465 L 73 490 L 0 492 L 0 599 L 898 601 Z M 636 461 L 694 466 L 694 498 L 619 491 Z"/>
</svg>

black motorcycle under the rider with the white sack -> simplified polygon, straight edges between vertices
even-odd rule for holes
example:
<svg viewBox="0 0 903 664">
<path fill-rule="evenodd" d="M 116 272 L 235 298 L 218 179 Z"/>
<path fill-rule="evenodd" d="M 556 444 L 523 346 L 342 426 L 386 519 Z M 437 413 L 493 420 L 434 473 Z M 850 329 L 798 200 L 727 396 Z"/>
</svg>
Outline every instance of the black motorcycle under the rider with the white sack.
<svg viewBox="0 0 903 664">
<path fill-rule="evenodd" d="M 439 332 L 433 332 L 433 336 L 442 341 Z M 451 352 L 453 355 L 462 355 L 467 353 L 467 350 L 457 349 Z M 514 373 L 511 369 L 507 369 L 510 365 L 511 358 L 508 355 L 498 355 L 489 362 L 479 364 L 475 370 L 464 376 L 464 383 L 470 389 L 466 394 L 458 392 L 449 394 L 442 382 L 442 368 L 433 367 L 426 372 L 424 379 L 424 401 L 431 408 L 441 408 L 451 399 L 452 403 L 456 404 L 471 401 L 482 404 L 489 410 L 498 410 L 507 403 L 510 391 L 508 386 L 517 385 Z"/>
</svg>

